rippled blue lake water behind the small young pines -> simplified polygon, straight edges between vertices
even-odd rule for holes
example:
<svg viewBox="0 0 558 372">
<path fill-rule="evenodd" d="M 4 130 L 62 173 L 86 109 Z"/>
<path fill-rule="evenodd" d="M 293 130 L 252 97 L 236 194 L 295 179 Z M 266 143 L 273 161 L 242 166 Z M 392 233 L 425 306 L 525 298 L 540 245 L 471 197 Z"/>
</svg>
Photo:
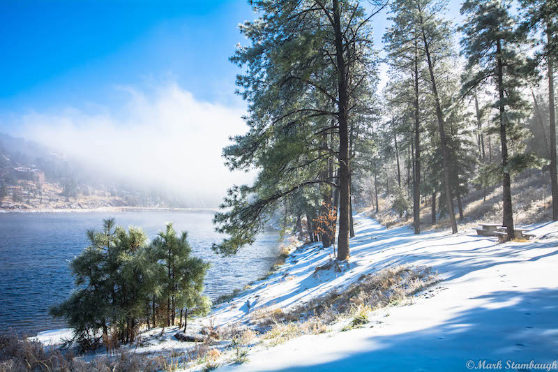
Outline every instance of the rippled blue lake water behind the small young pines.
<svg viewBox="0 0 558 372">
<path fill-rule="evenodd" d="M 105 212 L 0 214 L 0 332 L 13 327 L 36 334 L 66 327 L 50 317 L 48 308 L 72 292 L 68 261 L 87 246 L 86 230 L 100 230 L 108 216 Z M 213 230 L 212 211 L 112 212 L 110 216 L 125 228 L 143 228 L 149 239 L 167 222 L 173 222 L 177 231 L 187 230 L 194 255 L 212 263 L 205 286 L 212 299 L 266 274 L 280 253 L 278 234 L 269 232 L 236 256 L 216 255 L 211 245 L 223 235 Z"/>
</svg>

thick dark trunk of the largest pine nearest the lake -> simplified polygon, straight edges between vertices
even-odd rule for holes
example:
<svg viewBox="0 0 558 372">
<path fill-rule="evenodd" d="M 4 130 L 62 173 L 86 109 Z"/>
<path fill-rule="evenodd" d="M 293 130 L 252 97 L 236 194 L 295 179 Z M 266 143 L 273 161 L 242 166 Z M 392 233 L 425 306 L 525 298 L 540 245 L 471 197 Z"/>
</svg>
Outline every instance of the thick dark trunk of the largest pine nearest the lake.
<svg viewBox="0 0 558 372">
<path fill-rule="evenodd" d="M 333 0 L 333 32 L 335 34 L 335 57 L 338 74 L 338 115 L 339 115 L 339 237 L 337 259 L 349 258 L 349 126 L 347 109 L 349 96 L 347 92 L 347 71 L 345 66 L 345 45 L 342 40 L 341 17 L 338 0 Z"/>
</svg>

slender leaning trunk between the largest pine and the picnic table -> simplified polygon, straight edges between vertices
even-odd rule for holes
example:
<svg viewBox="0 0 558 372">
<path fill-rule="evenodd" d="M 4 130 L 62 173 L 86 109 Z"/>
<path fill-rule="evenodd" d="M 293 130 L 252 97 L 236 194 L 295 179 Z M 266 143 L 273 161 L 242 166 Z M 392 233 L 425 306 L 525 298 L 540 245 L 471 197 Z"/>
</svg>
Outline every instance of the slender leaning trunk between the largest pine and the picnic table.
<svg viewBox="0 0 558 372">
<path fill-rule="evenodd" d="M 422 17 L 421 17 L 422 23 Z M 434 75 L 434 67 L 432 66 L 432 59 L 430 58 L 430 49 L 428 47 L 428 41 L 426 40 L 426 34 L 423 31 L 423 41 L 424 49 L 426 53 L 426 59 L 428 61 L 428 70 L 430 72 L 430 80 L 432 82 L 432 94 L 434 96 L 434 101 L 436 105 L 436 118 L 438 121 L 438 131 L 440 133 L 440 147 L 442 148 L 442 166 L 444 168 L 444 191 L 446 194 L 446 207 L 448 209 L 449 221 L 451 223 L 451 232 L 455 234 L 458 232 L 458 224 L 455 221 L 455 213 L 453 211 L 453 198 L 451 197 L 451 187 L 449 183 L 449 157 L 447 149 L 446 140 L 446 130 L 444 128 L 444 117 L 442 115 L 442 105 L 440 104 L 438 90 L 436 86 L 436 79 Z"/>
</svg>

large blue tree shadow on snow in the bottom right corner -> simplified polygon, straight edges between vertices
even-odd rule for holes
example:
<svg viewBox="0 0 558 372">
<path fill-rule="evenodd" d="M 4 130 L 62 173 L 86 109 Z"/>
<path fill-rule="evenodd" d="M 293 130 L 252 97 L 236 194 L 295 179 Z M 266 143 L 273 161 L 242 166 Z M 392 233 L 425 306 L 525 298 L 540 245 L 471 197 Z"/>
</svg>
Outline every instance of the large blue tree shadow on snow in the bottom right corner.
<svg viewBox="0 0 558 372">
<path fill-rule="evenodd" d="M 497 291 L 487 303 L 437 327 L 393 336 L 371 336 L 365 351 L 331 362 L 285 371 L 468 371 L 468 360 L 548 363 L 558 350 L 558 290 Z M 331 338 L 335 343 L 335 338 Z M 331 350 L 335 353 L 335 345 Z M 278 370 L 279 371 L 279 370 Z M 528 371 L 528 370 L 525 370 Z"/>
</svg>

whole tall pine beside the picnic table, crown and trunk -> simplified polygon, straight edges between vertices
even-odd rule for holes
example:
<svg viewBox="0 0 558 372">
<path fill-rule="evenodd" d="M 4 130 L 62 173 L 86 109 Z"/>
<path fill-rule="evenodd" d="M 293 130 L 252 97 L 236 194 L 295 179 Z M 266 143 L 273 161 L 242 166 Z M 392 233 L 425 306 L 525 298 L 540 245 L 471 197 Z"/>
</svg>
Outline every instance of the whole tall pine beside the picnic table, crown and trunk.
<svg viewBox="0 0 558 372">
<path fill-rule="evenodd" d="M 525 41 L 515 32 L 515 20 L 509 13 L 510 2 L 504 0 L 467 0 L 461 13 L 466 15 L 461 43 L 468 59 L 468 70 L 478 70 L 465 80 L 465 91 L 471 91 L 487 81 L 495 82 L 497 92 L 495 108 L 497 131 L 502 147 L 502 164 L 491 168 L 492 174 L 501 176 L 503 185 L 504 214 L 502 225 L 508 230 L 508 239 L 515 237 L 511 200 L 511 173 L 525 168 L 532 157 L 522 151 L 511 155 L 510 140 L 521 143 L 525 131 L 520 121 L 525 117 L 527 103 L 520 94 L 525 83 L 525 59 L 519 50 Z M 523 138 L 522 138 L 523 137 Z M 495 171 L 495 172 L 494 172 Z"/>
</svg>

